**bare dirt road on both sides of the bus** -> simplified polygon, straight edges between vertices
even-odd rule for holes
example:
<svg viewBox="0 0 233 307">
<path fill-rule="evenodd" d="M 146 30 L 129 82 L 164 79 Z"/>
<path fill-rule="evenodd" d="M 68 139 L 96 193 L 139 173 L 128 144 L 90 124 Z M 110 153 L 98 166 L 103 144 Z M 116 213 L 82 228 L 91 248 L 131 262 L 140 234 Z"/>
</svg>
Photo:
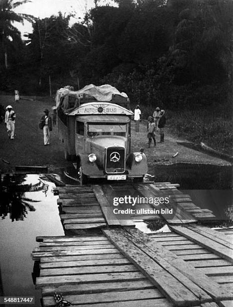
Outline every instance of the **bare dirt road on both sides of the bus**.
<svg viewBox="0 0 233 307">
<path fill-rule="evenodd" d="M 56 169 L 72 165 L 71 162 L 66 162 L 64 159 L 63 146 L 58 138 L 57 126 L 51 133 L 51 145 L 44 146 L 43 131 L 39 129 L 38 124 L 41 116 L 44 115 L 44 109 L 51 110 L 55 102 L 51 98 L 41 100 L 43 101 L 21 99 L 16 104 L 14 96 L 0 96 L 0 103 L 5 107 L 11 104 L 17 116 L 14 140 L 8 138 L 5 124 L 0 124 L 0 170 L 3 173 L 14 170 L 17 165 L 48 166 L 49 172 L 55 172 Z M 164 143 L 157 143 L 156 147 L 152 145 L 151 148 L 147 148 L 148 140 L 145 124 L 141 124 L 140 132 L 134 130 L 134 123 L 132 123 L 132 149 L 137 151 L 141 147 L 145 148 L 149 170 L 155 165 L 174 163 L 230 165 L 224 160 L 178 144 L 177 142 L 185 142 L 185 140 L 176 138 L 168 133 L 167 129 L 165 129 Z M 158 133 L 156 139 L 159 140 Z M 178 152 L 178 155 L 172 158 L 176 152 Z M 9 162 L 9 164 L 3 160 Z"/>
</svg>

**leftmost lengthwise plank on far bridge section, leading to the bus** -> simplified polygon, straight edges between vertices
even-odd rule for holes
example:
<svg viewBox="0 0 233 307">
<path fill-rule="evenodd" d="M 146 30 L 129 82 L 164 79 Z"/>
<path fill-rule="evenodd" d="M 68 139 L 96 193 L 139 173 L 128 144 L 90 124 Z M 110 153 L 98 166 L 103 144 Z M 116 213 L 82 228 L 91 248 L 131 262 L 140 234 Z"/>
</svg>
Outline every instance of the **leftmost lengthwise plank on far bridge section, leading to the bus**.
<svg viewBox="0 0 233 307">
<path fill-rule="evenodd" d="M 109 226 L 119 226 L 120 222 L 116 218 L 116 216 L 113 214 L 113 211 L 111 209 L 111 205 L 109 204 L 107 198 L 104 195 L 103 190 L 98 185 L 93 185 L 92 190 L 95 194 L 96 199 L 98 200 L 98 203 L 101 207 L 101 210 L 103 212 L 103 215 L 107 221 L 107 224 Z"/>
</svg>

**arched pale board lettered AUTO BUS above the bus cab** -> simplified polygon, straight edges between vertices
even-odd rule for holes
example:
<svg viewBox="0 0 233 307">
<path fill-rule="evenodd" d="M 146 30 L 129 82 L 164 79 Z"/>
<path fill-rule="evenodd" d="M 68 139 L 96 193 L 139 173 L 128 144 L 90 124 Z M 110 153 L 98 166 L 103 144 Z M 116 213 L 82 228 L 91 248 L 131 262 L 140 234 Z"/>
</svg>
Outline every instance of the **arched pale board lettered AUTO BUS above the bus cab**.
<svg viewBox="0 0 233 307">
<path fill-rule="evenodd" d="M 89 102 L 81 104 L 67 115 L 133 115 L 133 112 L 126 108 L 110 102 Z"/>
</svg>

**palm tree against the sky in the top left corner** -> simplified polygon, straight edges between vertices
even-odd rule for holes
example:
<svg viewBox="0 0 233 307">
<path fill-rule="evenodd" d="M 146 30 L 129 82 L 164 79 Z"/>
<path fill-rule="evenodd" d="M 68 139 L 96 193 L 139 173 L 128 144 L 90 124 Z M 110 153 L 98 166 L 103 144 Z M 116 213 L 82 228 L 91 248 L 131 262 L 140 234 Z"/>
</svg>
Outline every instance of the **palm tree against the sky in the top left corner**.
<svg viewBox="0 0 233 307">
<path fill-rule="evenodd" d="M 30 0 L 0 0 L 0 66 L 8 69 L 8 49 L 12 42 L 21 41 L 20 31 L 12 24 L 14 22 L 24 23 L 24 20 L 32 22 L 33 16 L 27 14 L 17 14 L 14 10 L 22 4 L 31 2 Z"/>
</svg>

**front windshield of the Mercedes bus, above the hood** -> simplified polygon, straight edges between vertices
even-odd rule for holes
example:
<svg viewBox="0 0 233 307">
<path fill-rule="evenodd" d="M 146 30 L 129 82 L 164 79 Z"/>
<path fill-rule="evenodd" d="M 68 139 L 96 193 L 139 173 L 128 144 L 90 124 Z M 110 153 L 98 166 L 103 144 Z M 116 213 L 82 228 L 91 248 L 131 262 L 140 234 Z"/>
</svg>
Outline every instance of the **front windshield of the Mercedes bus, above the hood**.
<svg viewBox="0 0 233 307">
<path fill-rule="evenodd" d="M 126 135 L 126 124 L 116 124 L 116 123 L 108 123 L 108 124 L 89 124 L 88 125 L 88 136 L 91 137 L 96 135 Z"/>
</svg>

